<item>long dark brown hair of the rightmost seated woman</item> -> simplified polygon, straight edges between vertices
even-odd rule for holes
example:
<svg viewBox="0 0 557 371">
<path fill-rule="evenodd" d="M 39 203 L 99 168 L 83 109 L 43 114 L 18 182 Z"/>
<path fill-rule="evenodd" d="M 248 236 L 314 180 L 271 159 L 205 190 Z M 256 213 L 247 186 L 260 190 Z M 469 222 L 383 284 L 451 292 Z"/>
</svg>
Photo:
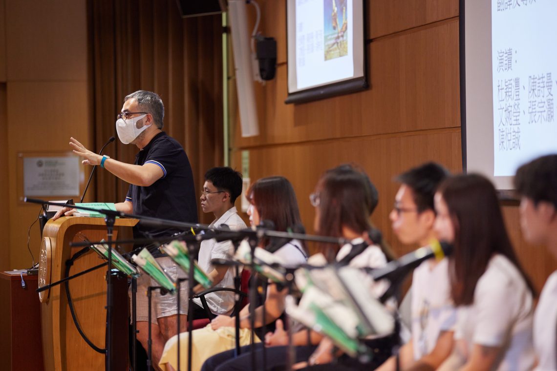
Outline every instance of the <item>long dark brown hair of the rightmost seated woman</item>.
<svg viewBox="0 0 557 371">
<path fill-rule="evenodd" d="M 494 254 L 504 255 L 520 271 L 535 295 L 507 235 L 495 187 L 477 174 L 448 177 L 438 192 L 455 228 L 455 249 L 449 258 L 451 296 L 456 305 L 470 305 L 480 277 Z"/>
</svg>

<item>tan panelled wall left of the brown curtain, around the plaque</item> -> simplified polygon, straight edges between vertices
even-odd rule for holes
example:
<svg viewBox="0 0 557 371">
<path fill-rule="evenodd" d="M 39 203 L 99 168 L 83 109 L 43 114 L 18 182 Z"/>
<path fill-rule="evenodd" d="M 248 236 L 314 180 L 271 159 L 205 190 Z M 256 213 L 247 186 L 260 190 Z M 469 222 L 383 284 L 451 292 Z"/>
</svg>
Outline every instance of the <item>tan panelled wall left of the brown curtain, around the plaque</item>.
<svg viewBox="0 0 557 371">
<path fill-rule="evenodd" d="M 9 174 L 0 185 L 0 191 L 6 189 L 0 192 L 2 203 L 9 205 L 8 220 L 0 224 L 2 235 L 9 236 L 9 261 L 0 255 L 0 268 L 22 269 L 31 266 L 27 229 L 40 206 L 18 197 L 18 154 L 69 151 L 70 136 L 85 145 L 91 142 L 86 1 L 0 0 L 0 9 L 0 79 L 5 76 L 0 81 L 6 82 L 0 89 L 0 103 L 6 107 L 0 145 L 6 152 L 3 171 Z M 0 108 L 0 118 L 2 114 Z M 36 261 L 38 222 L 31 232 Z"/>
</svg>

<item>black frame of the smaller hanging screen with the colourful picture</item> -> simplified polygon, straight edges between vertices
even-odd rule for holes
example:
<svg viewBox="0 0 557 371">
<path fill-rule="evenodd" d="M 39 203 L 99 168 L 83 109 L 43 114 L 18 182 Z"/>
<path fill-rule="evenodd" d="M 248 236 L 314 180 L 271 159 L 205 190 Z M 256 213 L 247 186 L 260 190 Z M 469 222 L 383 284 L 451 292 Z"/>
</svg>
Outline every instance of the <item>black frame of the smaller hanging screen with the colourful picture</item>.
<svg viewBox="0 0 557 371">
<path fill-rule="evenodd" d="M 331 82 L 326 85 L 320 85 L 312 88 L 307 88 L 304 90 L 290 92 L 288 86 L 288 66 L 291 62 L 289 60 L 289 28 L 288 28 L 288 3 L 289 0 L 285 1 L 285 9 L 286 9 L 286 68 L 287 68 L 287 79 L 286 79 L 286 91 L 287 91 L 287 98 L 285 100 L 286 104 L 294 103 L 306 103 L 312 102 L 317 100 L 322 100 L 326 98 L 331 98 L 334 96 L 339 95 L 346 95 L 351 93 L 356 93 L 360 91 L 367 90 L 369 88 L 368 83 L 368 44 L 370 40 L 367 39 L 367 31 L 368 31 L 368 17 L 367 17 L 367 1 L 366 0 L 353 0 L 355 2 L 361 3 L 361 48 L 362 48 L 362 58 L 363 58 L 363 65 L 362 65 L 362 73 L 363 76 L 361 77 L 354 77 L 350 78 L 350 80 L 343 80 L 338 82 Z M 355 33 L 356 31 L 354 31 Z M 354 43 L 354 47 L 356 46 Z M 296 61 L 292 61 L 292 63 L 296 63 Z"/>
</svg>

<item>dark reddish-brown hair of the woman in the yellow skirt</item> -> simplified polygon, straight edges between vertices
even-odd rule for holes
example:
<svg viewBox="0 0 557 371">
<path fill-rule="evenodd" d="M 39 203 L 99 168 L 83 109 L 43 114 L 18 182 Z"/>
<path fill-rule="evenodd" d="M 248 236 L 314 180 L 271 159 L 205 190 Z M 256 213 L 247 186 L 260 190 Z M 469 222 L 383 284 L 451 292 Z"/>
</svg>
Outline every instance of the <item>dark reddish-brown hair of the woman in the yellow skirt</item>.
<svg viewBox="0 0 557 371">
<path fill-rule="evenodd" d="M 272 221 L 275 230 L 284 232 L 292 226 L 301 225 L 296 193 L 285 177 L 261 178 L 250 186 L 246 195 L 257 209 L 260 219 Z"/>
</svg>

